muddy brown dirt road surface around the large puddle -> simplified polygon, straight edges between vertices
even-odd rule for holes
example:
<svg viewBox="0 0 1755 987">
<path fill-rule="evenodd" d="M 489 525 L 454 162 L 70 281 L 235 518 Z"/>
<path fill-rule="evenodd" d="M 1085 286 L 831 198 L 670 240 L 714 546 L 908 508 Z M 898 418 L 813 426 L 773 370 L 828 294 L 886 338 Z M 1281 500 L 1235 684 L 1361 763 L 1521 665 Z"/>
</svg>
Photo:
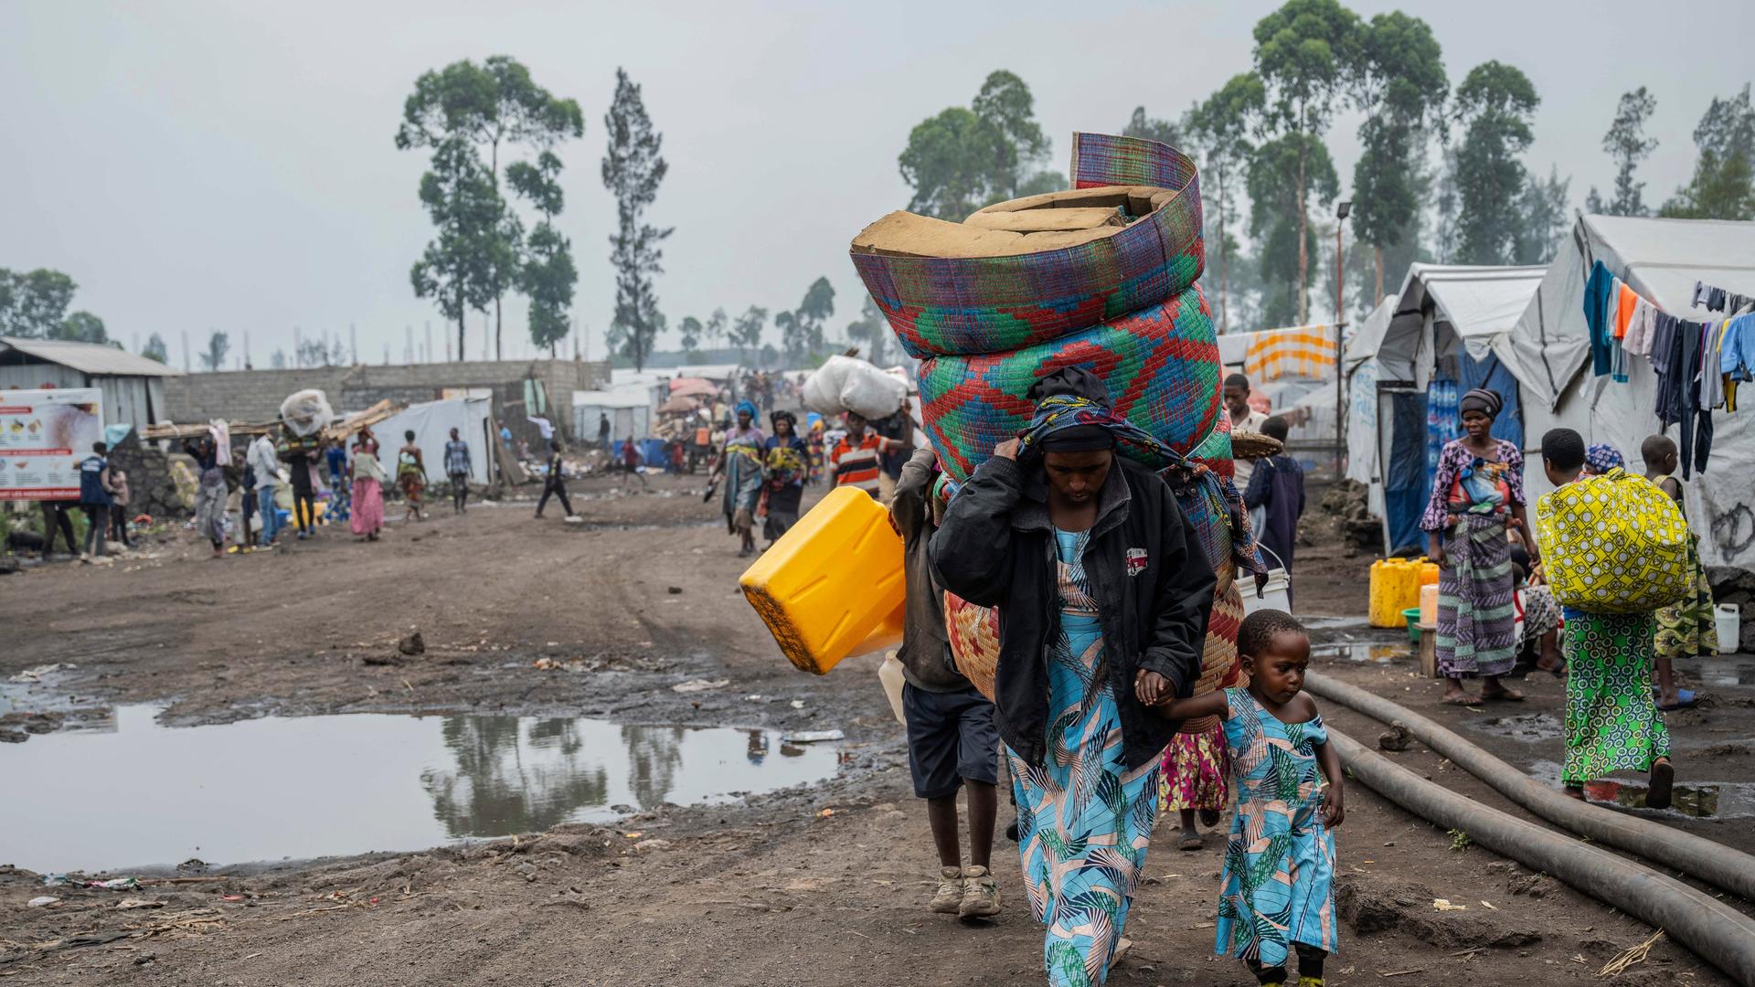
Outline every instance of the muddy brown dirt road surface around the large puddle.
<svg viewBox="0 0 1755 987">
<path fill-rule="evenodd" d="M 272 864 L 140 861 L 158 868 L 91 875 L 144 878 L 126 890 L 44 887 L 25 869 L 32 848 L 14 848 L 14 859 L 0 854 L 0 864 L 16 864 L 0 866 L 0 978 L 1039 983 L 1041 933 L 1004 838 L 997 922 L 925 911 L 935 862 L 876 660 L 813 678 L 777 655 L 735 590 L 742 562 L 698 481 L 660 479 L 639 495 L 590 481 L 581 495 L 584 525 L 555 511 L 532 520 L 530 502 L 481 504 L 462 518 L 441 509 L 428 523 L 398 525 L 377 544 L 330 536 L 211 562 L 193 536 L 177 534 L 112 566 L 0 578 L 0 681 L 75 666 L 0 688 L 0 729 L 28 738 L 0 745 L 7 811 L 23 803 L 68 820 L 142 813 L 149 825 L 147 808 L 111 804 L 100 787 L 90 799 L 30 804 L 5 769 L 23 762 L 4 760 L 56 739 L 28 731 L 104 722 L 133 704 L 161 704 L 167 727 L 337 713 L 591 717 L 746 727 L 751 745 L 772 736 L 776 746 L 788 731 L 841 729 L 830 780 L 718 806 L 632 806 L 614 820 L 504 839 Z M 1322 581 L 1300 611 L 1348 616 L 1351 597 L 1351 613 L 1364 611 L 1364 564 L 1351 585 Z M 1518 708 L 1441 708 L 1437 685 L 1411 674 L 1404 639 L 1339 620 L 1322 627 L 1336 645 L 1318 659 L 1325 671 L 1460 724 L 1518 764 L 1558 759 L 1560 741 L 1541 720 L 1560 717 L 1558 681 L 1532 676 Z M 412 630 L 425 652 L 405 655 L 398 641 Z M 541 659 L 556 667 L 539 669 Z M 1744 743 L 1755 734 L 1755 688 L 1736 662 L 1690 674 L 1716 704 L 1671 720 L 1683 780 L 1755 782 Z M 1525 718 L 1502 722 L 1513 715 Z M 1365 743 L 1383 729 L 1339 710 L 1325 717 Z M 453 753 L 463 759 L 483 738 L 453 743 Z M 362 746 L 358 757 L 383 762 L 384 752 Z M 1400 757 L 1504 806 L 1418 746 Z M 167 783 L 177 778 L 177 764 L 161 769 Z M 102 766 L 91 771 L 100 776 Z M 1358 785 L 1348 803 L 1332 983 L 1585 983 L 1651 933 L 1481 848 L 1453 850 L 1451 834 Z M 365 799 L 333 811 L 363 820 L 388 810 Z M 1678 825 L 1750 848 L 1746 820 Z M 1127 929 L 1134 948 L 1111 983 L 1253 983 L 1241 964 L 1211 957 L 1218 847 L 1211 836 L 1197 854 L 1167 841 L 1153 848 Z M 39 896 L 58 901 L 30 908 Z M 1467 908 L 1439 911 L 1437 897 Z M 1671 943 L 1620 982 L 1725 983 Z"/>
</svg>

